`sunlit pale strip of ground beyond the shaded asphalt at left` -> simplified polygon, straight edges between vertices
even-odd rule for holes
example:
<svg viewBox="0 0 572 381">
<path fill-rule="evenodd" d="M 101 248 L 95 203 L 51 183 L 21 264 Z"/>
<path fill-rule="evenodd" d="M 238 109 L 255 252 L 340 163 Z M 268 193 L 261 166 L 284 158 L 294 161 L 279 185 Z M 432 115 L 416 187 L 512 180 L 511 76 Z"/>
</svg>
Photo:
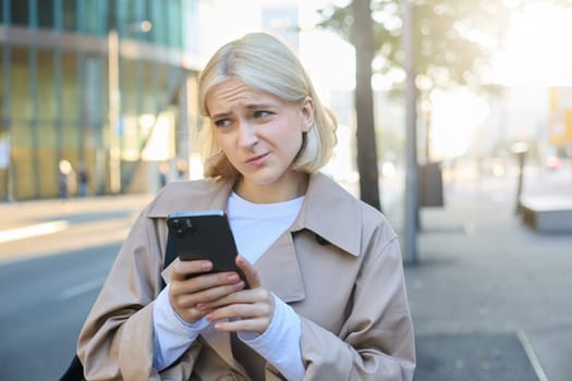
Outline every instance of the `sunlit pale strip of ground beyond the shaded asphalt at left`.
<svg viewBox="0 0 572 381">
<path fill-rule="evenodd" d="M 123 241 L 151 194 L 0 204 L 0 265 Z"/>
</svg>

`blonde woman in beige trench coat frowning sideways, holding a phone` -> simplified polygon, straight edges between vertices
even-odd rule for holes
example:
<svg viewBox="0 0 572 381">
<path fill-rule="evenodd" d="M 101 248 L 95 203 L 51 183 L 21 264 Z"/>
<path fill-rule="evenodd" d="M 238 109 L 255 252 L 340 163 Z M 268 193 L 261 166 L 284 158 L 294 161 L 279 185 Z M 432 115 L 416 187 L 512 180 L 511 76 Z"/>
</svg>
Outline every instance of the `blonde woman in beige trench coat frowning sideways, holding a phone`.
<svg viewBox="0 0 572 381">
<path fill-rule="evenodd" d="M 198 93 L 205 179 L 168 184 L 134 222 L 78 339 L 87 379 L 412 380 L 398 238 L 319 172 L 336 121 L 296 56 L 245 35 Z M 200 260 L 162 270 L 166 217 L 202 209 L 227 211 L 244 280 Z"/>
</svg>

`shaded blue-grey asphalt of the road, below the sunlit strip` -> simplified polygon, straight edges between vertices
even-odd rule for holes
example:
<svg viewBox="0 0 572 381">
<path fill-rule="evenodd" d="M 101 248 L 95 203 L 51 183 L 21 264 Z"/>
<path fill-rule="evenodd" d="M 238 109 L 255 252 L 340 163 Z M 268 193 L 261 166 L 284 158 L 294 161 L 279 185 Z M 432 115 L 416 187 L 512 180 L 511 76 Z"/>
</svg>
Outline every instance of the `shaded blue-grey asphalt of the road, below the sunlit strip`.
<svg viewBox="0 0 572 381">
<path fill-rule="evenodd" d="M 58 380 L 118 244 L 0 266 L 0 380 Z"/>
</svg>

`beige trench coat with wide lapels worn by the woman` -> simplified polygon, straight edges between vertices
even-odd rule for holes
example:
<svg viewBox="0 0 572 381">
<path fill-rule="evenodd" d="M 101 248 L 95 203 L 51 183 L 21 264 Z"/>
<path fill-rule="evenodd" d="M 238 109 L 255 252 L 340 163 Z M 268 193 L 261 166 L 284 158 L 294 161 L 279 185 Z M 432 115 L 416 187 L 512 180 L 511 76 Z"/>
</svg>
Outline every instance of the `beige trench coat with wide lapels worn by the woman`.
<svg viewBox="0 0 572 381">
<path fill-rule="evenodd" d="M 88 380 L 247 380 L 228 333 L 206 329 L 158 373 L 153 303 L 170 212 L 226 209 L 232 184 L 177 182 L 141 213 L 80 334 Z M 300 216 L 255 263 L 265 287 L 302 320 L 305 380 L 412 380 L 413 327 L 398 239 L 384 216 L 321 173 L 313 174 Z M 266 380 L 283 380 L 266 365 Z"/>
</svg>

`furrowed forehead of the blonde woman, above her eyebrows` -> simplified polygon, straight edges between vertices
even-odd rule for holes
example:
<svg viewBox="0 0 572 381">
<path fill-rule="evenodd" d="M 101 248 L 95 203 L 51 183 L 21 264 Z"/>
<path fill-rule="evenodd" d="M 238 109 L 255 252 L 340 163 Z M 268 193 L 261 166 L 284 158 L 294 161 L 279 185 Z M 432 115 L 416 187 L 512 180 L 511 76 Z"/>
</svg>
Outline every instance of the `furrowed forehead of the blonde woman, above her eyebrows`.
<svg viewBox="0 0 572 381">
<path fill-rule="evenodd" d="M 234 107 L 280 101 L 275 95 L 253 88 L 238 77 L 230 77 L 212 86 L 205 98 L 209 114 Z"/>
</svg>

